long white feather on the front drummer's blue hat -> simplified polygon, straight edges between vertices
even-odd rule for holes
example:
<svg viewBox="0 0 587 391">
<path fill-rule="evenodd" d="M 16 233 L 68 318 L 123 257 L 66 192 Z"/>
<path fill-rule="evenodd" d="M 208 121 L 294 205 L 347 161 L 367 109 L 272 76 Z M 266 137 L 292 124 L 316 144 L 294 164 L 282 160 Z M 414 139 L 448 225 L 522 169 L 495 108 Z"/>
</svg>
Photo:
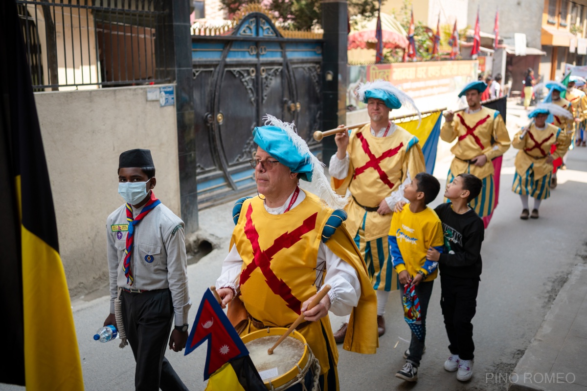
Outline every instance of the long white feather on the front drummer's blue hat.
<svg viewBox="0 0 587 391">
<path fill-rule="evenodd" d="M 332 190 L 332 187 L 330 187 L 330 181 L 324 174 L 324 164 L 318 160 L 318 157 L 310 152 L 308 144 L 306 144 L 306 142 L 298 135 L 294 122 L 291 124 L 289 122 L 283 122 L 269 114 L 266 114 L 263 119 L 265 125 L 277 126 L 278 128 L 283 129 L 292 143 L 294 143 L 298 153 L 302 156 L 306 156 L 306 162 L 312 164 L 312 183 L 318 188 L 318 196 L 321 198 L 322 202 L 332 209 L 344 208 L 349 200 L 346 197 L 342 197 L 342 195 L 336 194 L 334 190 Z"/>
</svg>

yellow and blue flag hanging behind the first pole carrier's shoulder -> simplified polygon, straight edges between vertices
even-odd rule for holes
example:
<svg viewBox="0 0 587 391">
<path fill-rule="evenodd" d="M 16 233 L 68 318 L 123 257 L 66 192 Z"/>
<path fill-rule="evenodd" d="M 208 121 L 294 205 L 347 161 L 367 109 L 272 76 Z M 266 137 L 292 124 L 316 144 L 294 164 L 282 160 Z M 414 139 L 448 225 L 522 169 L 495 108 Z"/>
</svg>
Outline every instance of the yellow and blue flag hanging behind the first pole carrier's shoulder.
<svg viewBox="0 0 587 391">
<path fill-rule="evenodd" d="M 429 174 L 434 172 L 438 138 L 440 138 L 441 118 L 442 111 L 436 111 L 423 115 L 420 127 L 418 127 L 418 118 L 410 119 L 406 122 L 396 122 L 397 125 L 402 126 L 402 128 L 418 138 L 420 148 L 424 154 L 426 172 Z"/>
</svg>

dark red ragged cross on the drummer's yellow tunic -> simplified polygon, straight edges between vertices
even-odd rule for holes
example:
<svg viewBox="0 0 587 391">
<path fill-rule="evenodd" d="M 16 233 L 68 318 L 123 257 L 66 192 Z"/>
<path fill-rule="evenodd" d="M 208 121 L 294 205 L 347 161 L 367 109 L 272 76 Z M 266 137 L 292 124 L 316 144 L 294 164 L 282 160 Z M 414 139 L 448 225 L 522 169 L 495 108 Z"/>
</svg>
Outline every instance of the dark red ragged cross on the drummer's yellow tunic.
<svg viewBox="0 0 587 391">
<path fill-rule="evenodd" d="M 284 280 L 279 279 L 273 270 L 271 270 L 271 260 L 281 249 L 290 248 L 302 239 L 302 235 L 307 234 L 316 227 L 316 217 L 318 216 L 318 212 L 306 218 L 302 222 L 302 225 L 294 229 L 294 231 L 285 232 L 279 236 L 279 238 L 275 239 L 273 244 L 265 250 L 261 250 L 261 247 L 259 246 L 259 233 L 251 220 L 252 212 L 253 207 L 249 204 L 247 209 L 247 222 L 245 223 L 245 235 L 247 236 L 247 239 L 249 239 L 249 242 L 251 242 L 254 259 L 247 265 L 247 267 L 245 267 L 245 270 L 242 270 L 240 284 L 243 285 L 247 282 L 249 277 L 251 277 L 251 273 L 258 267 L 261 269 L 261 273 L 263 273 L 263 276 L 265 277 L 265 282 L 271 291 L 281 296 L 281 298 L 287 303 L 286 305 L 288 308 L 291 308 L 291 310 L 299 315 L 301 313 L 302 302 L 294 296 L 291 288 L 284 282 Z"/>
</svg>

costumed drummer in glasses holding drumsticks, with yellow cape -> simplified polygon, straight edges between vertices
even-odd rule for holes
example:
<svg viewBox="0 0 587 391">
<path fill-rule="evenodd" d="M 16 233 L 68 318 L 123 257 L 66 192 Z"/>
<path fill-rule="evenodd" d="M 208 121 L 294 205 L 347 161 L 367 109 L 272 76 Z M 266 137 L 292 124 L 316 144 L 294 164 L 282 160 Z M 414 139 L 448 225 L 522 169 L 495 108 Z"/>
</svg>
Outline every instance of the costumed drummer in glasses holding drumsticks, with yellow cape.
<svg viewBox="0 0 587 391">
<path fill-rule="evenodd" d="M 330 189 L 323 166 L 293 124 L 266 116 L 253 131 L 258 149 L 258 197 L 235 204 L 230 253 L 216 282 L 222 306 L 241 335 L 266 327 L 289 327 L 306 338 L 321 366 L 322 390 L 338 390 L 338 349 L 328 311 L 350 314 L 343 348 L 375 354 L 379 346 L 376 297 L 366 265 L 342 222 L 346 199 Z M 318 186 L 320 197 L 301 190 L 299 179 Z M 306 310 L 325 284 L 328 294 Z M 244 305 L 244 308 L 243 308 Z"/>
</svg>

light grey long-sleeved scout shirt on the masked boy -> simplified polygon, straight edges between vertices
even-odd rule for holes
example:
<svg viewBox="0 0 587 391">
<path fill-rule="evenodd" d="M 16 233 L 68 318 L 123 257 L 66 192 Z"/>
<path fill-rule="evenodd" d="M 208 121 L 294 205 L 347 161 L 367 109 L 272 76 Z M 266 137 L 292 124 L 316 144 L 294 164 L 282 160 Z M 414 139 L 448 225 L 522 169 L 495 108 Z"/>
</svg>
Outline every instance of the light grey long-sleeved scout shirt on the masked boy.
<svg viewBox="0 0 587 391">
<path fill-rule="evenodd" d="M 143 208 L 135 210 L 136 218 Z M 108 269 L 110 275 L 110 313 L 114 313 L 117 288 L 171 290 L 175 324 L 188 323 L 191 307 L 187 286 L 184 222 L 163 204 L 157 205 L 134 227 L 134 247 L 130 260 L 133 286 L 124 276 L 124 249 L 128 223 L 126 204 L 112 212 L 106 221 Z"/>
</svg>

